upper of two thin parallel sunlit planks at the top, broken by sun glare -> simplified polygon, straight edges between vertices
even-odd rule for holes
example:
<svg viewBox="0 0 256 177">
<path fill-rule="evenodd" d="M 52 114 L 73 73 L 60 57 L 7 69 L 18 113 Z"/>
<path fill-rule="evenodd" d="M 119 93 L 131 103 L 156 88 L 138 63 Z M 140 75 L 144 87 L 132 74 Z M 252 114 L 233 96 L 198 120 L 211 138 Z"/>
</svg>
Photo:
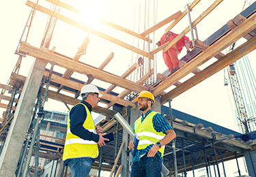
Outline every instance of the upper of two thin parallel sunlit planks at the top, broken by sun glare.
<svg viewBox="0 0 256 177">
<path fill-rule="evenodd" d="M 83 14 L 82 10 L 77 9 L 76 7 L 72 7 L 71 5 L 67 5 L 66 3 L 62 3 L 60 1 L 57 0 L 46 0 L 48 2 L 54 3 L 55 5 L 59 5 L 60 7 L 63 7 L 67 10 L 71 10 L 72 12 L 76 12 L 77 14 Z M 108 22 L 102 18 L 98 18 L 97 19 L 98 22 L 102 22 L 104 25 L 108 25 L 109 27 L 113 27 L 115 29 L 118 29 L 119 31 L 123 31 L 124 33 L 128 33 L 130 35 L 133 35 L 134 37 L 138 37 L 140 39 L 145 40 L 146 42 L 148 42 L 148 38 L 140 35 L 138 33 L 135 33 L 134 31 L 130 31 L 129 29 L 125 29 L 124 27 L 120 27 L 119 25 L 115 25 L 112 22 Z M 152 43 L 152 39 L 150 39 L 150 42 Z"/>
</svg>

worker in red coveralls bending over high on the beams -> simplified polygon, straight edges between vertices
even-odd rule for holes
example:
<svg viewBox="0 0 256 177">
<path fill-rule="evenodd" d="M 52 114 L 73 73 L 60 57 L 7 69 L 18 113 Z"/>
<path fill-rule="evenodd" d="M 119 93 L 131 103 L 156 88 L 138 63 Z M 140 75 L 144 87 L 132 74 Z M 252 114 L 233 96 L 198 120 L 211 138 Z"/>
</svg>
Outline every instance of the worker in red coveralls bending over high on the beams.
<svg viewBox="0 0 256 177">
<path fill-rule="evenodd" d="M 157 46 L 162 46 L 167 42 L 171 42 L 178 34 L 169 31 L 162 35 L 160 42 L 156 43 Z M 164 58 L 165 65 L 167 65 L 170 72 L 175 71 L 179 67 L 178 54 L 182 51 L 183 47 L 186 47 L 186 52 L 190 52 L 189 48 L 192 48 L 192 42 L 188 37 L 184 36 L 180 41 L 173 45 L 167 52 L 162 51 L 162 57 Z"/>
</svg>

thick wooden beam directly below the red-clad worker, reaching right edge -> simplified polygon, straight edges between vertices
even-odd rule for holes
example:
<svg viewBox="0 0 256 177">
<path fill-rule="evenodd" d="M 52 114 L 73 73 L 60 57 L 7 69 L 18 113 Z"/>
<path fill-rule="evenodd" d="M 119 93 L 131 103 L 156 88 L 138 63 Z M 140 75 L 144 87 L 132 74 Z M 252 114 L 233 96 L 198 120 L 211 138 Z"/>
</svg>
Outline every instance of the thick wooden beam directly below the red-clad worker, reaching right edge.
<svg viewBox="0 0 256 177">
<path fill-rule="evenodd" d="M 171 77 L 168 77 L 165 81 L 158 84 L 158 86 L 154 88 L 154 91 L 152 91 L 152 93 L 155 96 L 159 95 L 160 93 L 162 93 L 162 91 L 165 91 L 165 89 L 169 88 L 169 86 L 180 80 L 183 76 L 186 76 L 191 71 L 194 71 L 195 69 L 197 69 L 197 67 L 203 65 L 203 63 L 205 63 L 212 57 L 216 56 L 216 54 L 220 53 L 222 50 L 233 44 L 233 42 L 236 42 L 245 34 L 255 29 L 255 20 L 256 13 L 250 16 L 244 22 L 242 22 L 239 28 L 229 31 L 227 35 L 221 37 L 221 39 L 218 39 L 218 41 L 212 44 L 212 46 L 201 52 L 201 54 L 197 55 L 197 57 L 195 57 L 186 65 L 186 68 L 180 68 L 179 70 L 175 71 L 175 73 L 173 73 Z"/>
</svg>

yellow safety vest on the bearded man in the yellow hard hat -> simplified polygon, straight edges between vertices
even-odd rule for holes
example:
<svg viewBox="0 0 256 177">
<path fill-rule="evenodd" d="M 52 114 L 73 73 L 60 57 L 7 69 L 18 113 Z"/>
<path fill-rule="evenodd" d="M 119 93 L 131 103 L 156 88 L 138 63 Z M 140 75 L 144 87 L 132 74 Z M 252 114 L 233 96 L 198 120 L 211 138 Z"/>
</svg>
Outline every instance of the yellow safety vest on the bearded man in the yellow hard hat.
<svg viewBox="0 0 256 177">
<path fill-rule="evenodd" d="M 154 115 L 156 115 L 158 112 L 150 112 L 143 122 L 141 123 L 141 116 L 135 121 L 134 124 L 134 130 L 135 133 L 139 136 L 139 144 L 137 149 L 144 149 L 150 144 L 156 144 L 156 142 L 162 140 L 162 138 L 165 138 L 165 133 L 157 132 L 154 129 L 152 120 Z M 161 152 L 162 156 L 165 152 L 165 146 L 162 146 L 158 149 L 158 151 Z"/>
</svg>

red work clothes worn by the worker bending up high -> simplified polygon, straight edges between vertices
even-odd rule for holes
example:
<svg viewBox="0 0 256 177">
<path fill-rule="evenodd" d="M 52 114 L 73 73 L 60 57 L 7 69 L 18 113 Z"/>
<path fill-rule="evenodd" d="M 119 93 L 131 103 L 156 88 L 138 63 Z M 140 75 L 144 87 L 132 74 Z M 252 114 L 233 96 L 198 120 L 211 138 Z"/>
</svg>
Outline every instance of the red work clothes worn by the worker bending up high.
<svg viewBox="0 0 256 177">
<path fill-rule="evenodd" d="M 166 42 L 171 42 L 178 35 L 171 31 L 169 31 L 169 33 L 171 33 L 171 34 L 168 35 L 168 33 L 165 33 L 162 35 L 162 37 L 160 39 L 161 46 L 162 46 L 162 44 L 165 44 Z M 168 35 L 168 38 L 167 38 L 167 41 L 165 42 L 167 35 Z M 171 71 L 171 69 L 173 69 L 174 67 L 179 66 L 179 59 L 177 59 L 177 56 L 182 51 L 182 48 L 185 46 L 185 43 L 184 43 L 185 39 L 187 39 L 189 41 L 189 38 L 184 36 L 184 37 L 182 37 L 182 39 L 180 39 L 180 41 L 178 41 L 175 45 L 173 45 L 171 48 L 169 48 L 169 50 L 167 50 L 167 52 L 162 51 L 162 57 L 164 58 L 165 65 L 167 65 L 169 71 Z"/>
</svg>

